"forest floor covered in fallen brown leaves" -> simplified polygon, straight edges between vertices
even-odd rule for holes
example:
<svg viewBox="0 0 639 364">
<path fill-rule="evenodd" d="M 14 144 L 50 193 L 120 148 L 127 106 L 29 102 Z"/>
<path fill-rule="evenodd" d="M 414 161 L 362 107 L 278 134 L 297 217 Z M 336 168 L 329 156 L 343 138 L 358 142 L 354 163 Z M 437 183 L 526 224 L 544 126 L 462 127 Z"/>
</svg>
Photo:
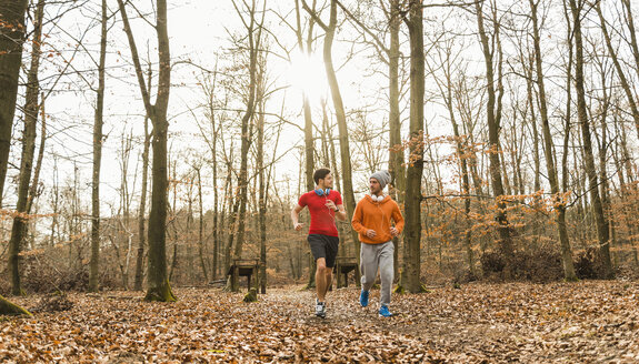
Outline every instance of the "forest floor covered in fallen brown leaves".
<svg viewBox="0 0 639 364">
<path fill-rule="evenodd" d="M 357 287 L 269 290 L 259 302 L 219 289 L 70 293 L 73 307 L 0 317 L 2 363 L 637 363 L 639 282 L 473 283 L 393 295 L 393 317 L 358 303 Z M 14 299 L 27 309 L 38 296 Z"/>
</svg>

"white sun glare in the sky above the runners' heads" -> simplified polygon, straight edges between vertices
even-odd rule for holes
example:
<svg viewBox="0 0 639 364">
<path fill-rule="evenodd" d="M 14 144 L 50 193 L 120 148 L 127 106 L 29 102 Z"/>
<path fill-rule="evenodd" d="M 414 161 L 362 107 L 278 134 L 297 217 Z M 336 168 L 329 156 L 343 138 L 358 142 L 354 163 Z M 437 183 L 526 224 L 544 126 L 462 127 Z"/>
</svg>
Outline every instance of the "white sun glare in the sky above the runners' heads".
<svg viewBox="0 0 639 364">
<path fill-rule="evenodd" d="M 317 104 L 327 97 L 328 81 L 323 61 L 319 55 L 294 53 L 287 75 L 293 90 L 307 94 L 311 104 Z"/>
</svg>

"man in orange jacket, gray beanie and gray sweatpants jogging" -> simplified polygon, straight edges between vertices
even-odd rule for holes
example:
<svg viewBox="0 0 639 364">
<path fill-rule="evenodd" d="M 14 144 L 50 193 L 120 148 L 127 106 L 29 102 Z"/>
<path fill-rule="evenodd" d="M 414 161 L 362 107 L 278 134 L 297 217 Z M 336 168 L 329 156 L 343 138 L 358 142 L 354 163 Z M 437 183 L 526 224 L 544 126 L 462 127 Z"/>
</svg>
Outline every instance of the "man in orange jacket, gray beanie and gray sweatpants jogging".
<svg viewBox="0 0 639 364">
<path fill-rule="evenodd" d="M 392 237 L 401 233 L 403 216 L 397 202 L 383 194 L 383 188 L 390 182 L 390 173 L 380 171 L 371 174 L 369 179 L 370 194 L 361 199 L 355 208 L 352 228 L 359 233 L 361 243 L 360 272 L 361 293 L 359 303 L 368 306 L 369 291 L 372 287 L 379 270 L 381 279 L 381 294 L 379 315 L 390 317 L 388 306 L 393 280 Z M 391 220 L 395 226 L 391 225 Z"/>
</svg>

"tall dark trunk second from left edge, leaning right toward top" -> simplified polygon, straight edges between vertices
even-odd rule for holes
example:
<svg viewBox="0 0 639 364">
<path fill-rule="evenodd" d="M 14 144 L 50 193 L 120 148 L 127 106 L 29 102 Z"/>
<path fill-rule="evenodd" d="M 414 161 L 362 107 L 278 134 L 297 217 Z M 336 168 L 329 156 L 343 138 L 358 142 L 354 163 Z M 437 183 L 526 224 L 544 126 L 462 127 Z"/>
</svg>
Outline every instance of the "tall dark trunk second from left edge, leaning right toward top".
<svg viewBox="0 0 639 364">
<path fill-rule="evenodd" d="M 22 294 L 20 286 L 19 254 L 22 240 L 27 235 L 27 206 L 29 204 L 29 186 L 31 183 L 31 172 L 33 156 L 36 153 L 36 129 L 38 125 L 38 95 L 40 84 L 38 81 L 38 70 L 40 68 L 40 46 L 42 38 L 42 18 L 44 14 L 44 1 L 38 1 L 34 17 L 33 42 L 31 49 L 31 65 L 27 77 L 27 95 L 24 102 L 24 133 L 22 135 L 22 154 L 20 162 L 20 182 L 18 185 L 18 203 L 16 210 L 18 214 L 13 218 L 11 228 L 11 240 L 9 241 L 9 274 L 11 275 L 11 293 Z"/>
</svg>

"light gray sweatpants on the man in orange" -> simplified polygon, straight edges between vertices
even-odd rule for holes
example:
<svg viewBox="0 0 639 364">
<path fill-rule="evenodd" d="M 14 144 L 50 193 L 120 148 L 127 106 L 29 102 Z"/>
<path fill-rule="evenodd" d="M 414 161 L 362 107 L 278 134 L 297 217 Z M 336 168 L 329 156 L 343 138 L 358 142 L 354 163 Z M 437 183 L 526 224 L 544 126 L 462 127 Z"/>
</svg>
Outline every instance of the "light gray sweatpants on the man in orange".
<svg viewBox="0 0 639 364">
<path fill-rule="evenodd" d="M 360 264 L 361 272 L 361 287 L 369 291 L 375 284 L 377 271 L 381 279 L 381 294 L 379 303 L 382 306 L 390 304 L 390 292 L 392 290 L 393 266 L 392 255 L 395 253 L 395 245 L 392 241 L 382 244 L 366 244 L 361 243 Z"/>
</svg>

